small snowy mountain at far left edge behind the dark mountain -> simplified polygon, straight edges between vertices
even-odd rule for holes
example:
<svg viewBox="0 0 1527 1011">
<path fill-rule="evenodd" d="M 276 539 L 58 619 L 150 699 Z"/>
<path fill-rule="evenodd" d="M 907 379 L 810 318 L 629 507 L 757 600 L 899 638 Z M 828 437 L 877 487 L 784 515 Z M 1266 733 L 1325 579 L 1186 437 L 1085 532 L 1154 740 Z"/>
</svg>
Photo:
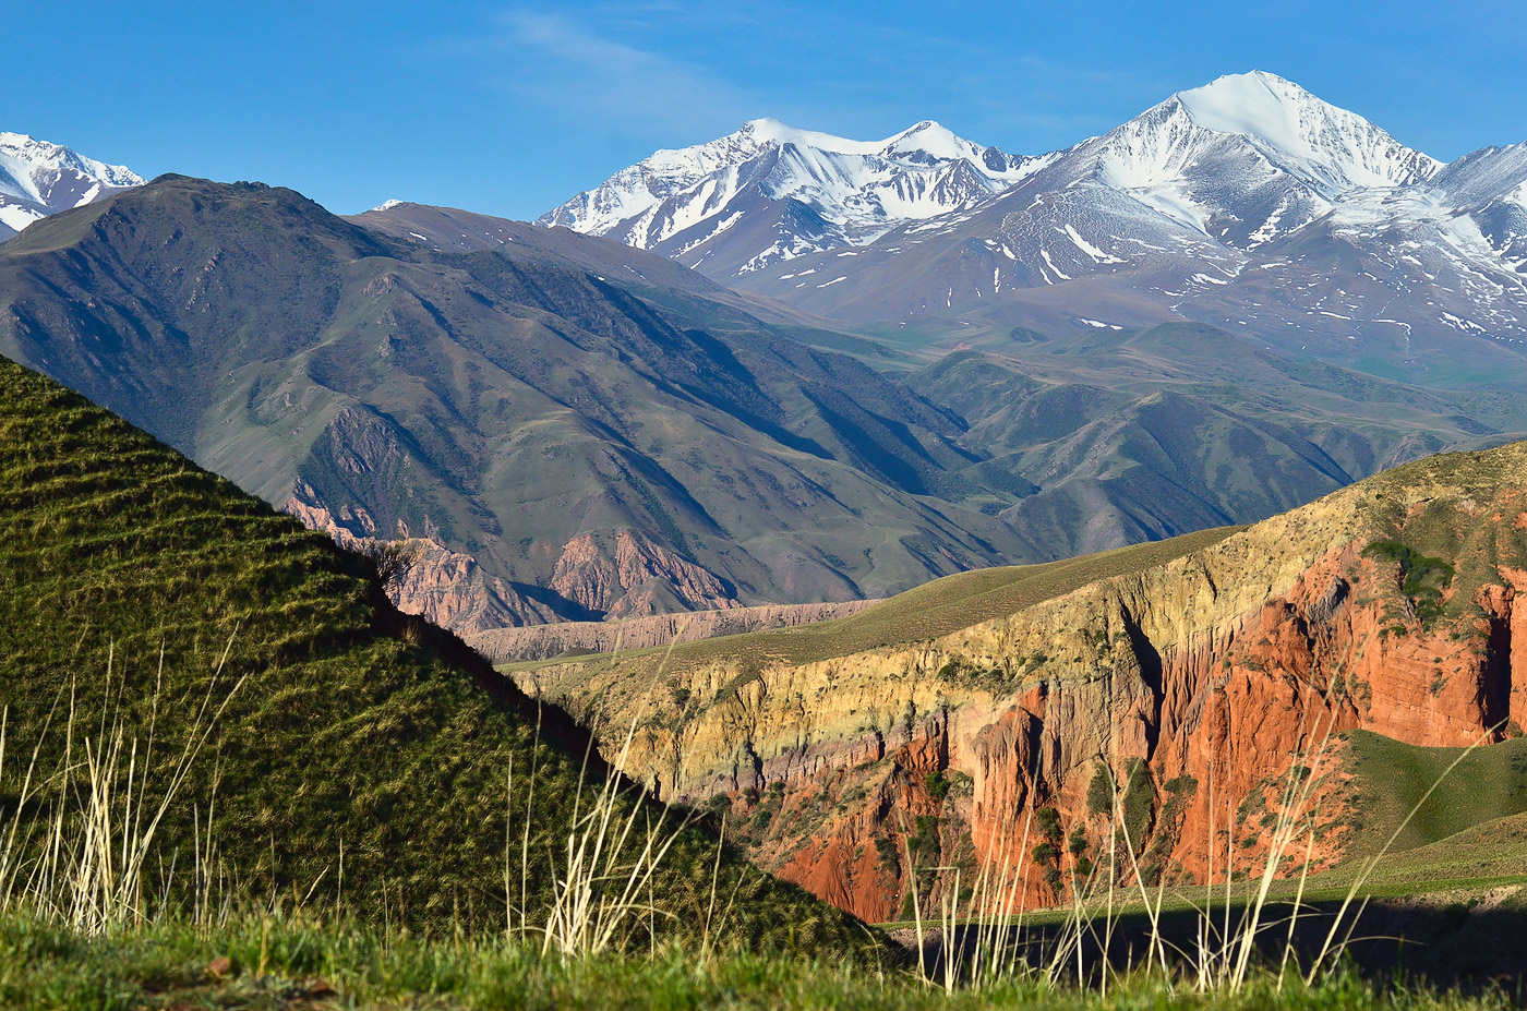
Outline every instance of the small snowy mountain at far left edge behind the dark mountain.
<svg viewBox="0 0 1527 1011">
<path fill-rule="evenodd" d="M 90 203 L 142 176 L 21 133 L 0 133 L 0 241 L 32 221 Z"/>
</svg>

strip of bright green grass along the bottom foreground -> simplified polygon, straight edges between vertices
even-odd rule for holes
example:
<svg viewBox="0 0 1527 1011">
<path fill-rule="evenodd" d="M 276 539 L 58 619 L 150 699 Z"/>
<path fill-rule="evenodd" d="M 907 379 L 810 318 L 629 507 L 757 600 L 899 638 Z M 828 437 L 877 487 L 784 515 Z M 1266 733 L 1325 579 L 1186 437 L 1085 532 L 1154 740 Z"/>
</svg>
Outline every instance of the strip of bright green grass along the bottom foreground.
<svg viewBox="0 0 1527 1011">
<path fill-rule="evenodd" d="M 226 959 L 226 961 L 224 961 Z M 1205 996 L 1141 974 L 1104 997 L 1014 980 L 945 994 L 906 973 L 747 953 L 699 961 L 542 959 L 507 941 L 428 941 L 403 933 L 284 919 L 238 919 L 214 932 L 159 924 L 84 939 L 0 919 L 0 1005 L 12 1011 L 137 1008 L 1290 1008 L 1310 1011 L 1492 1011 L 1506 994 L 1390 988 L 1336 974 L 1280 994 L 1270 977 Z"/>
</svg>

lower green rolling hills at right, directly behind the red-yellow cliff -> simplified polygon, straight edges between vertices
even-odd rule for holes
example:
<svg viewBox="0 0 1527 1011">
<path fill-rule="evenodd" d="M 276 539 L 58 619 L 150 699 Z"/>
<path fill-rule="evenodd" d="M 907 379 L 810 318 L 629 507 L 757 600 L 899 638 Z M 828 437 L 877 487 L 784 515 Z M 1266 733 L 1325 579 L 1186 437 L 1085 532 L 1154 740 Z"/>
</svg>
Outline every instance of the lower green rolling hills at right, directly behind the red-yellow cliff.
<svg viewBox="0 0 1527 1011">
<path fill-rule="evenodd" d="M 1069 553 L 1293 509 L 1405 460 L 1527 431 L 1519 389 L 1435 389 L 1202 324 L 982 344 L 913 373 L 983 460 L 999 513 Z"/>
</svg>

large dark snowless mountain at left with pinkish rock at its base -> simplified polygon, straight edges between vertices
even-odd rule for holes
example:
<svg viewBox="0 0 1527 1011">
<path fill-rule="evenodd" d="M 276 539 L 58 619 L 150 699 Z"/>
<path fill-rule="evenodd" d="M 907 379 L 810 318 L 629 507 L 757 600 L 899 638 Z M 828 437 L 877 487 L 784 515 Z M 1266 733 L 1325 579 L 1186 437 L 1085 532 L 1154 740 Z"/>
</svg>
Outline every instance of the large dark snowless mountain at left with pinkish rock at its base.
<svg viewBox="0 0 1527 1011">
<path fill-rule="evenodd" d="M 519 247 L 160 179 L 0 250 L 0 350 L 315 525 L 428 541 L 470 596 L 429 615 L 463 632 L 878 597 L 1019 553 L 950 501 L 980 493 L 971 454 L 904 385 Z"/>
</svg>

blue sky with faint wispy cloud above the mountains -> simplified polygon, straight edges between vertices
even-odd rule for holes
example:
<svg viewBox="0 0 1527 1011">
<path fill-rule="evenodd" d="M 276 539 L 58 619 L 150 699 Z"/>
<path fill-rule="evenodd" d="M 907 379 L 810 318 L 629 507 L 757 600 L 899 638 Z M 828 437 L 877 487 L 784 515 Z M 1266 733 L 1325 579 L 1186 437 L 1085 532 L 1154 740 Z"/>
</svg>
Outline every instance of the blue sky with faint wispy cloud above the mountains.
<svg viewBox="0 0 1527 1011">
<path fill-rule="evenodd" d="M 756 116 L 861 139 L 938 119 L 1040 153 L 1251 69 L 1445 160 L 1527 141 L 1519 0 L 142 0 L 5 20 L 0 130 L 337 212 L 400 197 L 534 217 Z"/>
</svg>

